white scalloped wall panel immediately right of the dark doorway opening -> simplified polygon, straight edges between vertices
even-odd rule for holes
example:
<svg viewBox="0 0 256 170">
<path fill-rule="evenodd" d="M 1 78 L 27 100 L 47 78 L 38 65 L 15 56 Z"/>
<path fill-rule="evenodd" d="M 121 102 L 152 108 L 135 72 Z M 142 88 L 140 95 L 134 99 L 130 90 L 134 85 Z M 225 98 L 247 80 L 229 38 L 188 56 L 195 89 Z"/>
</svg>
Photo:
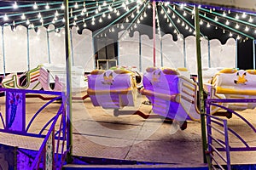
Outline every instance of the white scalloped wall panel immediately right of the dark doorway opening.
<svg viewBox="0 0 256 170">
<path fill-rule="evenodd" d="M 121 36 L 123 31 L 119 32 Z M 140 40 L 139 33 L 135 32 L 133 37 L 120 40 L 119 45 L 119 65 L 136 66 L 140 70 Z"/>
</svg>

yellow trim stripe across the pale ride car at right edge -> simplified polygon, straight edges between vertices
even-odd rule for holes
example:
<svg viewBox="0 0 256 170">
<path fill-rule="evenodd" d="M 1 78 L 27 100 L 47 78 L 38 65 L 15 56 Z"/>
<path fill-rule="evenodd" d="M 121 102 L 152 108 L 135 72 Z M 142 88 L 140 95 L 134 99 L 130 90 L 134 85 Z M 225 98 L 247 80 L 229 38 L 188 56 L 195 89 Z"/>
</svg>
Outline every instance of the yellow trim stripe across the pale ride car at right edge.
<svg viewBox="0 0 256 170">
<path fill-rule="evenodd" d="M 216 88 L 217 94 L 240 94 L 240 95 L 256 95 L 256 90 L 232 89 L 232 88 Z"/>
</svg>

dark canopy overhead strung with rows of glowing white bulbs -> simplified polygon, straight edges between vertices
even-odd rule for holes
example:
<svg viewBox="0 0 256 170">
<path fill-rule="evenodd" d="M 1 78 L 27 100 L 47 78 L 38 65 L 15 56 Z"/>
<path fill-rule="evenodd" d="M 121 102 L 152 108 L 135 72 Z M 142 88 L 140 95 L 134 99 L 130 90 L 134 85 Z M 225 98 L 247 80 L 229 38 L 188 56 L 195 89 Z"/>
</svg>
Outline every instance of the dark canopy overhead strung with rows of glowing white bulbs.
<svg viewBox="0 0 256 170">
<path fill-rule="evenodd" d="M 201 1 L 175 2 L 156 1 L 156 33 L 160 36 L 170 33 L 174 40 L 195 35 L 195 4 Z M 256 14 L 235 8 L 236 4 L 231 5 L 231 1 L 211 2 L 199 5 L 201 37 L 218 38 L 222 43 L 230 37 L 241 41 L 256 37 Z M 225 7 L 218 7 L 217 2 L 226 2 Z M 253 10 L 254 6 L 241 8 Z M 48 31 L 60 31 L 65 23 L 64 9 L 62 1 L 0 1 L 0 25 L 11 26 L 14 31 L 19 25 L 35 30 L 54 25 L 55 28 Z M 69 17 L 71 27 L 76 26 L 80 33 L 84 28 L 90 29 L 93 37 L 117 37 L 119 31 L 131 34 L 139 31 L 152 37 L 152 30 L 144 29 L 144 26 L 153 26 L 152 1 L 70 0 Z"/>
</svg>

